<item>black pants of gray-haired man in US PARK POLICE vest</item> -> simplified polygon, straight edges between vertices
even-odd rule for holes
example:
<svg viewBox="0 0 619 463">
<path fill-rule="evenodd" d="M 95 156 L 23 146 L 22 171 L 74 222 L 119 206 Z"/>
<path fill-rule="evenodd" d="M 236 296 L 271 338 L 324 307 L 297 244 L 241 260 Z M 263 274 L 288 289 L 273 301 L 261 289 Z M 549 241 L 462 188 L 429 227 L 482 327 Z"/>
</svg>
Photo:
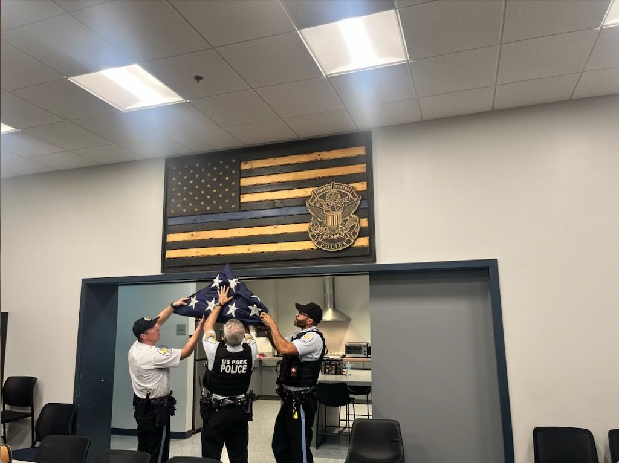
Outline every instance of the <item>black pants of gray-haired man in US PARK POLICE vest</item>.
<svg viewBox="0 0 619 463">
<path fill-rule="evenodd" d="M 202 420 L 202 457 L 220 460 L 226 444 L 230 463 L 248 463 L 249 415 L 243 407 L 210 410 L 208 420 Z"/>
</svg>

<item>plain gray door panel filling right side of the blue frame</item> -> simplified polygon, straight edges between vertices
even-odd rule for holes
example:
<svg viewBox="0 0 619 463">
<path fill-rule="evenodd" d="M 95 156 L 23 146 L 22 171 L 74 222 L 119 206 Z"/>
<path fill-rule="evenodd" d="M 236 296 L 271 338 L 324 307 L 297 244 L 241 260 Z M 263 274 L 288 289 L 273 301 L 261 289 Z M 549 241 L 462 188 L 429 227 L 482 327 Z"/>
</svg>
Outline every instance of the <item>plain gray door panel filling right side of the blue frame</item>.
<svg viewBox="0 0 619 463">
<path fill-rule="evenodd" d="M 374 418 L 398 420 L 407 461 L 501 463 L 487 279 L 370 277 Z"/>
</svg>

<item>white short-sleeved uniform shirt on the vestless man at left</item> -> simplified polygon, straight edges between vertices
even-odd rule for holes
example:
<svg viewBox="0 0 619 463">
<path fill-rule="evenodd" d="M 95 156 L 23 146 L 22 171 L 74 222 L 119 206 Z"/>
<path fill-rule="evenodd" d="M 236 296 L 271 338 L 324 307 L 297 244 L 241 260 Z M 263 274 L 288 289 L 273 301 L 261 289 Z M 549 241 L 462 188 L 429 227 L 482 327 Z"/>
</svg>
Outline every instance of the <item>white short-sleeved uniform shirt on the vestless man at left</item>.
<svg viewBox="0 0 619 463">
<path fill-rule="evenodd" d="M 129 349 L 129 376 L 133 392 L 141 399 L 150 391 L 150 399 L 170 394 L 170 368 L 181 361 L 181 350 L 133 343 Z"/>
</svg>

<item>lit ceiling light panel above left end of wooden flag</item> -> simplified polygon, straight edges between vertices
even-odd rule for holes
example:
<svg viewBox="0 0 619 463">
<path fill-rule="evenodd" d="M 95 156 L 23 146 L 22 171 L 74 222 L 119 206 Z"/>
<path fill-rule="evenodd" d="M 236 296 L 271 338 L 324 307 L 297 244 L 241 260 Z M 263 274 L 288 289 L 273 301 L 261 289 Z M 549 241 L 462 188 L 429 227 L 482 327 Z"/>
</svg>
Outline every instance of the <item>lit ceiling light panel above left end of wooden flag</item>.
<svg viewBox="0 0 619 463">
<path fill-rule="evenodd" d="M 137 64 L 103 69 L 99 72 L 69 77 L 69 80 L 121 111 L 140 110 L 184 101 L 180 95 Z"/>
</svg>

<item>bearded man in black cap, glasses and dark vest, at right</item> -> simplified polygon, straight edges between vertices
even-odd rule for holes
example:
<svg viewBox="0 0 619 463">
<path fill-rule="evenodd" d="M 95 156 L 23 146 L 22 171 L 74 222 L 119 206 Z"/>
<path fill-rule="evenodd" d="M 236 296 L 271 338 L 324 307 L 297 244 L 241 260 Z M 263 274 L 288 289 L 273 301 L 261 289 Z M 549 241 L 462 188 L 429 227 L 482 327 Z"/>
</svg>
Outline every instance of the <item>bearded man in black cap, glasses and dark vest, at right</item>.
<svg viewBox="0 0 619 463">
<path fill-rule="evenodd" d="M 318 383 L 322 358 L 326 352 L 324 336 L 316 325 L 322 320 L 318 304 L 295 303 L 298 313 L 295 326 L 301 331 L 283 337 L 271 316 L 260 318 L 269 329 L 269 340 L 284 358 L 277 378 L 277 394 L 282 407 L 275 419 L 271 447 L 277 463 L 313 463 L 309 450 L 318 400 L 314 387 Z"/>
</svg>

